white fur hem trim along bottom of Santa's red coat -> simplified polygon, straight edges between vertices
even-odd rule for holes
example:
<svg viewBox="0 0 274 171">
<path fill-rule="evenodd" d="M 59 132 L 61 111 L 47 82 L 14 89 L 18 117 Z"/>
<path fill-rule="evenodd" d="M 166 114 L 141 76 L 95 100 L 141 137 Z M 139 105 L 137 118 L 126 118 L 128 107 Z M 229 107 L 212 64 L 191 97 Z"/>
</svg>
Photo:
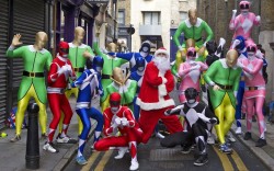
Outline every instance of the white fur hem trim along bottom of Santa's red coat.
<svg viewBox="0 0 274 171">
<path fill-rule="evenodd" d="M 146 102 L 142 102 L 139 98 L 137 98 L 136 104 L 138 104 L 140 106 L 140 109 L 145 110 L 145 111 L 160 110 L 163 107 L 175 105 L 173 99 L 169 99 L 169 100 L 164 101 L 162 98 L 160 98 L 160 101 L 156 102 L 156 103 L 146 103 Z"/>
</svg>

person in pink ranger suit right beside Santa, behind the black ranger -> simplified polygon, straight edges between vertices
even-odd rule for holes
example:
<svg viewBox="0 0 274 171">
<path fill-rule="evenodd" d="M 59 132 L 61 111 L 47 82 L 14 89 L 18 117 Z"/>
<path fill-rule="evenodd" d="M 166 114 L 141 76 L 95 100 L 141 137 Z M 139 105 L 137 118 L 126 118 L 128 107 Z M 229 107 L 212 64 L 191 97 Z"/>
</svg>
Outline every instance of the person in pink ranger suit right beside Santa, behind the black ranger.
<svg viewBox="0 0 274 171">
<path fill-rule="evenodd" d="M 181 103 L 185 103 L 186 99 L 184 91 L 187 88 L 194 88 L 199 92 L 199 76 L 202 71 L 207 70 L 207 65 L 201 61 L 195 61 L 196 50 L 194 47 L 187 48 L 186 61 L 180 65 L 179 76 L 182 78 L 179 91 L 179 100 Z M 199 101 L 199 99 L 198 99 Z"/>
</svg>

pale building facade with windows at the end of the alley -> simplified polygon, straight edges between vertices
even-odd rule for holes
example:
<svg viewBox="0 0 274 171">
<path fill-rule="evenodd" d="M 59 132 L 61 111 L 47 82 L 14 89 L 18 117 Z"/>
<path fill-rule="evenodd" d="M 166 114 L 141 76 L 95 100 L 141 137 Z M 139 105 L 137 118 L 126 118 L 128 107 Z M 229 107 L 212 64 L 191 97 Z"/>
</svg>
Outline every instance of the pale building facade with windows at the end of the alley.
<svg viewBox="0 0 274 171">
<path fill-rule="evenodd" d="M 119 0 L 119 38 L 127 41 L 132 52 L 138 52 L 142 42 L 150 41 L 152 52 L 163 46 L 171 50 L 173 59 L 176 47 L 171 37 L 180 22 L 187 19 L 189 9 L 195 7 L 196 0 Z M 135 30 L 132 41 L 130 25 Z"/>
</svg>

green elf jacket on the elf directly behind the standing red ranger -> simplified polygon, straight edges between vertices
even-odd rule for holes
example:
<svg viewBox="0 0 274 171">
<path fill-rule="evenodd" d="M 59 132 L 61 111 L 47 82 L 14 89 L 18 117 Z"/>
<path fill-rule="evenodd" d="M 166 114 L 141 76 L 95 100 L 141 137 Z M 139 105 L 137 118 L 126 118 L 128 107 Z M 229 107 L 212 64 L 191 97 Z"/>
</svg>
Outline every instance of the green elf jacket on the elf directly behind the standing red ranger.
<svg viewBox="0 0 274 171">
<path fill-rule="evenodd" d="M 87 58 L 83 57 L 83 53 L 88 50 L 92 56 L 94 56 L 90 46 L 81 44 L 76 46 L 72 43 L 69 43 L 69 55 L 68 58 L 71 61 L 73 68 L 84 68 Z M 81 76 L 82 72 L 76 72 L 77 78 Z"/>
</svg>

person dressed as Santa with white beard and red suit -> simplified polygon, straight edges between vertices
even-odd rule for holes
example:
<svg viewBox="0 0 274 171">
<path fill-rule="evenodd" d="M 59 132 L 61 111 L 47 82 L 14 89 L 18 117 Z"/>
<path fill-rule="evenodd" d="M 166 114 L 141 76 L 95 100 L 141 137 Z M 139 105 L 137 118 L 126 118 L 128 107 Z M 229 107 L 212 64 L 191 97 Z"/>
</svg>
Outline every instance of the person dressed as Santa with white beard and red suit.
<svg viewBox="0 0 274 171">
<path fill-rule="evenodd" d="M 170 55 L 161 47 L 155 53 L 145 70 L 139 96 L 136 103 L 140 106 L 139 125 L 144 130 L 142 142 L 148 142 L 155 126 L 161 119 L 168 130 L 173 134 L 183 127 L 178 116 L 165 116 L 163 113 L 174 106 L 169 93 L 174 88 L 174 78 L 170 70 Z"/>
</svg>

